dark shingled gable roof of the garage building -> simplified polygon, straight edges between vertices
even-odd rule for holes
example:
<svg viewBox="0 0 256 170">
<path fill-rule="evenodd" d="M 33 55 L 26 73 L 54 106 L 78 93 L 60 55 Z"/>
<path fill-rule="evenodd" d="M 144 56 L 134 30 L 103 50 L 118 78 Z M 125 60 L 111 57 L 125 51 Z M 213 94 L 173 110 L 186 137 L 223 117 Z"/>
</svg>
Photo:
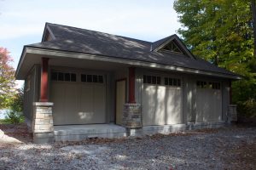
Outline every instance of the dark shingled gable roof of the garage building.
<svg viewBox="0 0 256 170">
<path fill-rule="evenodd" d="M 203 59 L 196 59 L 189 52 L 189 49 L 185 48 L 183 42 L 177 35 L 172 35 L 156 42 L 147 42 L 130 37 L 121 37 L 99 31 L 90 31 L 50 23 L 46 23 L 44 35 L 46 31 L 49 31 L 49 34 L 52 35 L 52 40 L 44 41 L 43 36 L 42 42 L 26 45 L 25 48 L 44 48 L 80 54 L 94 54 L 115 59 L 132 59 L 160 65 L 173 65 L 237 76 L 235 73 L 212 65 Z M 159 52 L 161 47 L 173 39 L 177 40 L 189 57 Z"/>
</svg>

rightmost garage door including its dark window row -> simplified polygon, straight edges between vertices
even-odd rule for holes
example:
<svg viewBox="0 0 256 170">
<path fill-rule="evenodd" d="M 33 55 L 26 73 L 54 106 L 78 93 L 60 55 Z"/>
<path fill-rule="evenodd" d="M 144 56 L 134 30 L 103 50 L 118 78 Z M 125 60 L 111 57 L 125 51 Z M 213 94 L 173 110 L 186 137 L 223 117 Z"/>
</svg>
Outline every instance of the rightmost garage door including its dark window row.
<svg viewBox="0 0 256 170">
<path fill-rule="evenodd" d="M 196 122 L 222 120 L 222 94 L 220 82 L 196 82 Z"/>
</svg>

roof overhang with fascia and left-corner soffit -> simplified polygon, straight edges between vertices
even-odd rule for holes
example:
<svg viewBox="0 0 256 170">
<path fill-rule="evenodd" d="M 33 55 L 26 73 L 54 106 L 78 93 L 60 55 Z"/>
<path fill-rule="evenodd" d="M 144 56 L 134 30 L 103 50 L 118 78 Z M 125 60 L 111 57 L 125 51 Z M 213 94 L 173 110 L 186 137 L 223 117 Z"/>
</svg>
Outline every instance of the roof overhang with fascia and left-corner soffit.
<svg viewBox="0 0 256 170">
<path fill-rule="evenodd" d="M 142 60 L 135 60 L 135 59 L 120 59 L 113 56 L 104 56 L 104 55 L 96 55 L 96 54 L 81 54 L 69 51 L 61 51 L 49 48 L 34 48 L 25 46 L 23 48 L 20 62 L 15 72 L 15 77 L 17 80 L 24 80 L 28 71 L 32 68 L 32 65 L 41 64 L 41 58 L 35 56 L 45 56 L 49 58 L 69 58 L 69 59 L 89 59 L 89 60 L 96 60 L 96 61 L 106 61 L 111 63 L 116 63 L 120 65 L 132 65 L 137 67 L 149 67 L 164 71 L 177 71 L 183 73 L 190 73 L 190 74 L 197 74 L 197 75 L 205 75 L 211 77 L 222 77 L 228 79 L 239 80 L 241 79 L 238 75 L 231 75 L 231 74 L 224 74 L 220 72 L 212 72 L 212 71 L 202 71 L 196 70 L 192 68 L 185 68 L 175 65 L 163 65 L 157 63 L 151 63 Z"/>
</svg>

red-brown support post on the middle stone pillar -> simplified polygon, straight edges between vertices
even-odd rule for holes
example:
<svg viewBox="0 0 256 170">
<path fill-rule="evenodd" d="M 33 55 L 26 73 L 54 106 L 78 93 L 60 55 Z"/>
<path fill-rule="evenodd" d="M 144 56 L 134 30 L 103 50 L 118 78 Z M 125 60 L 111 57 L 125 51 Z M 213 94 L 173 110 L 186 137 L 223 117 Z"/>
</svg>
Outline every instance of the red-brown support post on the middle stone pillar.
<svg viewBox="0 0 256 170">
<path fill-rule="evenodd" d="M 129 103 L 135 104 L 135 67 L 129 67 Z"/>
</svg>

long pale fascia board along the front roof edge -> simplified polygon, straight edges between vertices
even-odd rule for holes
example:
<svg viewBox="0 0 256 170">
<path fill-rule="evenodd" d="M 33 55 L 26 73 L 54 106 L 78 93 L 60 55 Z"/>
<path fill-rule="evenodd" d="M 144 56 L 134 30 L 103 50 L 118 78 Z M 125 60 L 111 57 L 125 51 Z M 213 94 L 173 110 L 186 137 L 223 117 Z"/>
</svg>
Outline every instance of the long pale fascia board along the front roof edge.
<svg viewBox="0 0 256 170">
<path fill-rule="evenodd" d="M 43 48 L 26 48 L 26 53 L 49 55 L 49 56 L 52 56 L 52 58 L 54 58 L 55 56 L 58 56 L 58 57 L 73 58 L 73 59 L 91 59 L 91 60 L 107 61 L 107 62 L 113 62 L 113 63 L 133 65 L 133 66 L 141 66 L 141 67 L 143 66 L 143 67 L 150 67 L 155 69 L 163 69 L 167 71 L 194 73 L 194 74 L 207 75 L 212 77 L 241 79 L 241 77 L 239 76 L 232 76 L 232 75 L 222 74 L 218 72 L 201 71 L 201 70 L 189 69 L 189 68 L 184 68 L 184 67 L 179 67 L 174 65 L 161 65 L 157 63 L 149 63 L 149 62 L 135 60 L 135 59 L 121 59 L 121 58 L 117 59 L 117 58 L 108 57 L 104 55 L 79 54 L 79 53 L 56 51 L 56 50 L 43 49 Z"/>
</svg>

